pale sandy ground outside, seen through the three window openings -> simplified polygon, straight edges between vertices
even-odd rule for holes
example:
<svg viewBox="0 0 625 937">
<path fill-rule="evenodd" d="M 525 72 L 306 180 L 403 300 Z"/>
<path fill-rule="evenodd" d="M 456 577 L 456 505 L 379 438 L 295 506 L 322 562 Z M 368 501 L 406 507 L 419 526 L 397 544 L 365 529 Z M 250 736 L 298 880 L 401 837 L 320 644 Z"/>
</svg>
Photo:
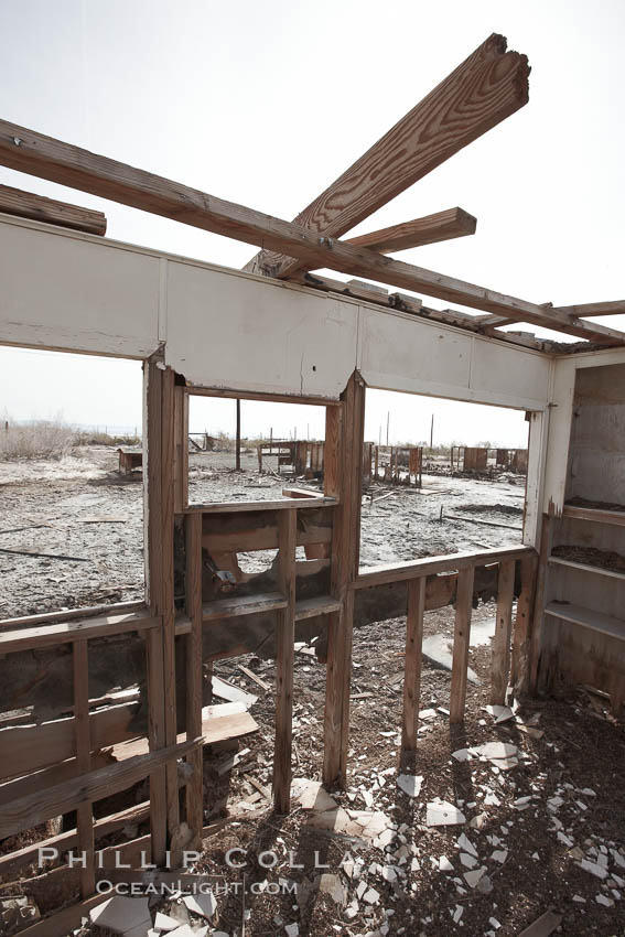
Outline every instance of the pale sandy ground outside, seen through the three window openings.
<svg viewBox="0 0 625 937">
<path fill-rule="evenodd" d="M 268 500 L 293 484 L 287 472 L 259 476 L 256 453 L 241 463 L 237 473 L 231 453 L 191 454 L 190 499 Z M 0 463 L 0 617 L 142 597 L 141 474 L 117 466 L 115 449 L 95 446 L 61 461 Z M 360 563 L 519 542 L 522 503 L 522 480 L 514 477 L 424 475 L 421 492 L 376 484 L 363 499 Z"/>
</svg>

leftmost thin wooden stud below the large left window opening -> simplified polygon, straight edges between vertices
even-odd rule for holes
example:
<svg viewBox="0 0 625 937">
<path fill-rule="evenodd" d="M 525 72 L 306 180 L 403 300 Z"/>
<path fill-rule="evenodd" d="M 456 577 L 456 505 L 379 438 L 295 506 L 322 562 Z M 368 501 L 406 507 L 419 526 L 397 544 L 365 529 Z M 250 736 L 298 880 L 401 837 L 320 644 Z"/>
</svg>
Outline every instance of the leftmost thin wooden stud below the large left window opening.
<svg viewBox="0 0 625 937">
<path fill-rule="evenodd" d="M 91 743 L 89 734 L 89 659 L 87 642 L 75 640 L 72 645 L 74 664 L 74 726 L 76 733 L 76 766 L 78 774 L 86 774 L 91 767 Z M 80 869 L 80 895 L 88 898 L 96 890 L 94 853 L 94 811 L 91 804 L 79 804 L 76 828 L 78 832 L 78 852 L 85 857 Z"/>
</svg>

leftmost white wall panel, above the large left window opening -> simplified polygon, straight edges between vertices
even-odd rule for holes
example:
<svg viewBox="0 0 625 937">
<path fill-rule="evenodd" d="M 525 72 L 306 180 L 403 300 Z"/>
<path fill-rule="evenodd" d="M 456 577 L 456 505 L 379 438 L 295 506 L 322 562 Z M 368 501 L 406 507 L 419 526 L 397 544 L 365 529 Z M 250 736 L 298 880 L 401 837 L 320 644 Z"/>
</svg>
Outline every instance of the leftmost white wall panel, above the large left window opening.
<svg viewBox="0 0 625 937">
<path fill-rule="evenodd" d="M 147 357 L 159 259 L 95 237 L 0 223 L 0 342 Z"/>
</svg>

